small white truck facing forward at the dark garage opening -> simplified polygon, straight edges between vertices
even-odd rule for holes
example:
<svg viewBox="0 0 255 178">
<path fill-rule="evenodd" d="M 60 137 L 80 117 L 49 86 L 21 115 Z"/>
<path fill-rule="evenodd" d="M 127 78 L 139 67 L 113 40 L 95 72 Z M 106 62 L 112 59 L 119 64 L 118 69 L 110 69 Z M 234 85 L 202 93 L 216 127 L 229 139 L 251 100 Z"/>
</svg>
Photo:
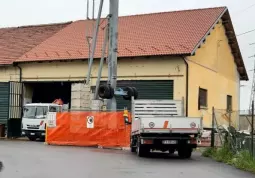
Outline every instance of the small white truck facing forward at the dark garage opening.
<svg viewBox="0 0 255 178">
<path fill-rule="evenodd" d="M 45 138 L 46 119 L 48 112 L 61 112 L 62 105 L 54 103 L 31 103 L 23 108 L 22 136 L 31 141 Z"/>
</svg>

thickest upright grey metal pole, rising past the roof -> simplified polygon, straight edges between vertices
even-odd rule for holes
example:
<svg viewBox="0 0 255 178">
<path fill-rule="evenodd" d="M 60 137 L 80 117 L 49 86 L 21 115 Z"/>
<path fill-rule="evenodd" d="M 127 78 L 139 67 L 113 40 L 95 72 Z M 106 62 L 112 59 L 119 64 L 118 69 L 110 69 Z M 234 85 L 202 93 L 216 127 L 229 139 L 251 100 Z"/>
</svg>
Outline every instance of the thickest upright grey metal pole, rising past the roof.
<svg viewBox="0 0 255 178">
<path fill-rule="evenodd" d="M 117 86 L 118 16 L 119 0 L 110 0 L 108 79 L 110 79 L 109 82 L 114 90 Z M 107 109 L 116 111 L 115 96 L 107 101 Z"/>
</svg>

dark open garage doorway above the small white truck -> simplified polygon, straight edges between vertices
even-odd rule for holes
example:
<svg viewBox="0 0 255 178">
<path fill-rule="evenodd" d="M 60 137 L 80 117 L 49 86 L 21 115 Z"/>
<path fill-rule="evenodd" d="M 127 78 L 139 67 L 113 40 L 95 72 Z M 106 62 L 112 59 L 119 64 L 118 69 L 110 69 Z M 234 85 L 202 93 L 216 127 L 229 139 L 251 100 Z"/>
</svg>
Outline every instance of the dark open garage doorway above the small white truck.
<svg viewBox="0 0 255 178">
<path fill-rule="evenodd" d="M 72 82 L 26 82 L 24 104 L 52 103 L 55 99 L 62 99 L 70 109 L 71 84 Z"/>
</svg>

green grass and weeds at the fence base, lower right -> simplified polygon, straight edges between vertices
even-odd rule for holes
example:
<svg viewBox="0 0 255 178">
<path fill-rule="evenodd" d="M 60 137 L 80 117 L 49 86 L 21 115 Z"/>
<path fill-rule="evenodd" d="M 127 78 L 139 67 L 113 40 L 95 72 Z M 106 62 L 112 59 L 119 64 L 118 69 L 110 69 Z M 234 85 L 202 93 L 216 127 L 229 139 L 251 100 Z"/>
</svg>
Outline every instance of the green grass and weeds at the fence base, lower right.
<svg viewBox="0 0 255 178">
<path fill-rule="evenodd" d="M 225 145 L 222 148 L 207 148 L 203 151 L 204 157 L 210 157 L 218 162 L 223 162 L 238 169 L 255 173 L 255 159 L 249 151 L 241 151 L 234 154 L 231 149 Z"/>
</svg>

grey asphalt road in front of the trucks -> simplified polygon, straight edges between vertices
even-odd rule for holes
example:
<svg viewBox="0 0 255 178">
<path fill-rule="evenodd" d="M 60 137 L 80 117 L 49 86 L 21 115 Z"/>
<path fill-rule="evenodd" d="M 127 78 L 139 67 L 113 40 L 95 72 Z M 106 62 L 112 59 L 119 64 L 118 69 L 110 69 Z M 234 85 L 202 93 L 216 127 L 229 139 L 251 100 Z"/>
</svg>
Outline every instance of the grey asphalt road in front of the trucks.
<svg viewBox="0 0 255 178">
<path fill-rule="evenodd" d="M 0 141 L 0 178 L 255 178 L 195 152 L 191 160 L 129 151 L 48 146 L 40 142 Z"/>
</svg>

